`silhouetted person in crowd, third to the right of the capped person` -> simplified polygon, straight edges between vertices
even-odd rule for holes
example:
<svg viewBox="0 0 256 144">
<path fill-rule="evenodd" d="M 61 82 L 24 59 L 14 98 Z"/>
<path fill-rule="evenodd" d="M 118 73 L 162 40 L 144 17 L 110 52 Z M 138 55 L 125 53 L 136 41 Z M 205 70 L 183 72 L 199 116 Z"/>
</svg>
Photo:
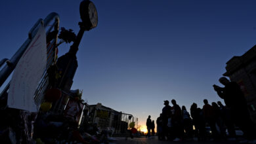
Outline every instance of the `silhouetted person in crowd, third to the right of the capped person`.
<svg viewBox="0 0 256 144">
<path fill-rule="evenodd" d="M 205 120 L 202 109 L 198 108 L 196 103 L 193 103 L 190 107 L 190 114 L 194 122 L 198 141 L 205 140 Z"/>
</svg>

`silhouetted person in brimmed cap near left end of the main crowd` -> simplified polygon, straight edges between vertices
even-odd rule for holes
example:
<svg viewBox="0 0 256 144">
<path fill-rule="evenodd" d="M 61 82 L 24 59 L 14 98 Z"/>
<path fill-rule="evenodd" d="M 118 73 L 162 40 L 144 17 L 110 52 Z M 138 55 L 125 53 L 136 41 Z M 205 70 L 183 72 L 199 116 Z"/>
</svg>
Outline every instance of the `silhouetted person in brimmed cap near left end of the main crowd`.
<svg viewBox="0 0 256 144">
<path fill-rule="evenodd" d="M 168 127 L 167 127 L 167 123 L 168 123 L 168 118 L 171 116 L 171 106 L 169 105 L 169 101 L 165 100 L 163 105 L 165 105 L 165 107 L 163 107 L 162 109 L 162 115 L 163 115 L 163 138 L 162 140 L 165 140 L 165 136 L 168 135 Z"/>
</svg>

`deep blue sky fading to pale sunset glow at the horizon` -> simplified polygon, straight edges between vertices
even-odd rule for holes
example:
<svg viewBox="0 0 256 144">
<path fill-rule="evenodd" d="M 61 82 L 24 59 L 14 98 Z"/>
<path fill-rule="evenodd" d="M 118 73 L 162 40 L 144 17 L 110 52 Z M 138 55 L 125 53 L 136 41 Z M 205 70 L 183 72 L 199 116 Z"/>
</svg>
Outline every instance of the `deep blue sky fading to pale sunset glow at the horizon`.
<svg viewBox="0 0 256 144">
<path fill-rule="evenodd" d="M 28 31 L 50 12 L 79 31 L 80 1 L 0 1 L 0 58 L 11 58 Z M 89 104 L 131 113 L 144 125 L 163 100 L 187 109 L 219 101 L 212 85 L 226 62 L 256 42 L 256 1 L 98 0 L 98 27 L 85 32 L 72 89 Z M 60 54 L 70 45 L 61 45 Z"/>
</svg>

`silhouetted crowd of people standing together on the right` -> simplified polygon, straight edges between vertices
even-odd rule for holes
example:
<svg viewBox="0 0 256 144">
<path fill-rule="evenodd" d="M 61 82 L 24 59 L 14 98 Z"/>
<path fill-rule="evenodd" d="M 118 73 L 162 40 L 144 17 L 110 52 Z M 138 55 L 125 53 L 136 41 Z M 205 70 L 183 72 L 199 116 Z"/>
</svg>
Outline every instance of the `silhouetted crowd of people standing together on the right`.
<svg viewBox="0 0 256 144">
<path fill-rule="evenodd" d="M 220 87 L 213 85 L 214 90 L 221 101 L 212 102 L 203 99 L 202 109 L 196 103 L 192 103 L 190 113 L 183 105 L 180 107 L 175 99 L 164 101 L 164 107 L 160 117 L 157 118 L 157 132 L 160 141 L 240 141 L 240 143 L 256 143 L 255 125 L 251 120 L 247 109 L 246 99 L 240 86 L 236 82 L 230 82 L 221 77 Z M 150 116 L 147 120 L 148 137 L 150 137 Z M 236 128 L 242 130 L 243 136 L 236 135 Z M 227 132 L 226 132 L 227 130 Z"/>
</svg>

